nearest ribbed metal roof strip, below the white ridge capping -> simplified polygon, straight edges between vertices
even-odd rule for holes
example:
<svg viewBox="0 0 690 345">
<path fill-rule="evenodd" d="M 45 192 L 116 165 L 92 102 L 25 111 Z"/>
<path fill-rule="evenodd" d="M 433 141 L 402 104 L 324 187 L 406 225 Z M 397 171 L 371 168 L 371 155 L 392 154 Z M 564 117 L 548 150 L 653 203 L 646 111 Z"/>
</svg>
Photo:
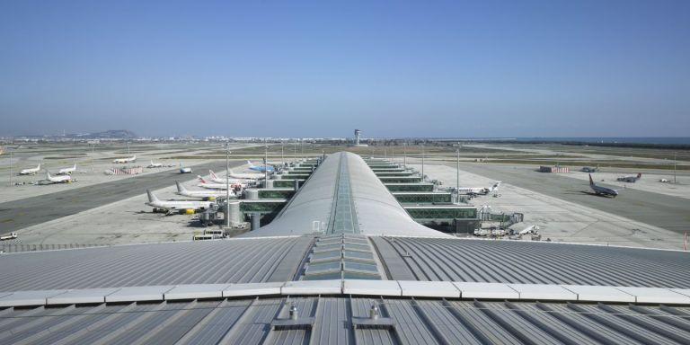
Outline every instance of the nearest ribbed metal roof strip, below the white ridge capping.
<svg viewBox="0 0 690 345">
<path fill-rule="evenodd" d="M 372 305 L 379 316 L 370 317 Z M 289 309 L 297 311 L 290 320 Z M 267 297 L 0 310 L 4 344 L 685 344 L 664 305 Z"/>
</svg>

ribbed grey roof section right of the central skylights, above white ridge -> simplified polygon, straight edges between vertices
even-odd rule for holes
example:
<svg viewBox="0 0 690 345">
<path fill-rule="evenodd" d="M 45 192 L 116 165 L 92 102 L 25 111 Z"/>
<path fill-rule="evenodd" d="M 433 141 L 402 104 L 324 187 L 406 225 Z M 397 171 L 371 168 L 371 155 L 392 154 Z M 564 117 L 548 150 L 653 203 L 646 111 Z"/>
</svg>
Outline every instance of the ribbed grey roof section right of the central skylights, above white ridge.
<svg viewBox="0 0 690 345">
<path fill-rule="evenodd" d="M 688 252 L 516 241 L 371 239 L 390 279 L 690 287 Z"/>
</svg>

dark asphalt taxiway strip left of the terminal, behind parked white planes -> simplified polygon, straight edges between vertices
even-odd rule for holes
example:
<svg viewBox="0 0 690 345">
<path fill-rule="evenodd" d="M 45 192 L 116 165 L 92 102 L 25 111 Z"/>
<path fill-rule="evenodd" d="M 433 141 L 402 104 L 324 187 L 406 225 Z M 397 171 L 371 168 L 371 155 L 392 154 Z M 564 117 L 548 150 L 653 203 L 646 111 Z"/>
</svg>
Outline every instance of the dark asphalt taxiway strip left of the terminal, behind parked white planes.
<svg viewBox="0 0 690 345">
<path fill-rule="evenodd" d="M 231 168 L 243 164 L 244 161 L 230 161 Z M 192 168 L 195 172 L 208 172 L 209 169 L 225 171 L 226 162 L 216 161 L 197 164 L 193 165 Z M 191 175 L 196 176 L 195 174 Z M 158 190 L 169 187 L 174 185 L 175 180 L 187 181 L 192 176 L 180 174 L 177 170 L 150 173 L 129 179 L 0 203 L 0 233 L 13 232 L 121 199 L 128 199 L 145 193 L 147 189 Z M 117 226 L 117 224 L 113 224 L 113 226 Z"/>
</svg>

